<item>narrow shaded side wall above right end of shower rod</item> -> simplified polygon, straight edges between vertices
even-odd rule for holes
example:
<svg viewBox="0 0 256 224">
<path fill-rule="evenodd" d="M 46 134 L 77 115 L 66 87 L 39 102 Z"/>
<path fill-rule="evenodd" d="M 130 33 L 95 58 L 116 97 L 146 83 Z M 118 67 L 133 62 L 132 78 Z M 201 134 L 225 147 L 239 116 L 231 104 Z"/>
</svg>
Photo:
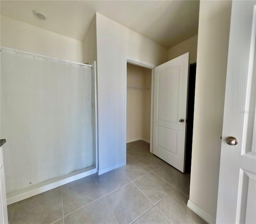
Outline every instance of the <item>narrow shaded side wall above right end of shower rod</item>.
<svg viewBox="0 0 256 224">
<path fill-rule="evenodd" d="M 97 61 L 96 14 L 84 38 L 83 50 L 84 63 L 92 64 L 94 61 Z"/>
</svg>

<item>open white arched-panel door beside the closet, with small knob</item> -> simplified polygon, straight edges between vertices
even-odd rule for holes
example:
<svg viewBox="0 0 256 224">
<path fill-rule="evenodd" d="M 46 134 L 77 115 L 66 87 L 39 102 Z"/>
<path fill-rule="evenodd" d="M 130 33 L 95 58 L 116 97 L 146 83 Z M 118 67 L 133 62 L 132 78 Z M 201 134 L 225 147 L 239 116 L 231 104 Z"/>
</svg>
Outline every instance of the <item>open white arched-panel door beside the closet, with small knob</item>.
<svg viewBox="0 0 256 224">
<path fill-rule="evenodd" d="M 155 68 L 152 152 L 184 172 L 188 53 Z"/>
</svg>

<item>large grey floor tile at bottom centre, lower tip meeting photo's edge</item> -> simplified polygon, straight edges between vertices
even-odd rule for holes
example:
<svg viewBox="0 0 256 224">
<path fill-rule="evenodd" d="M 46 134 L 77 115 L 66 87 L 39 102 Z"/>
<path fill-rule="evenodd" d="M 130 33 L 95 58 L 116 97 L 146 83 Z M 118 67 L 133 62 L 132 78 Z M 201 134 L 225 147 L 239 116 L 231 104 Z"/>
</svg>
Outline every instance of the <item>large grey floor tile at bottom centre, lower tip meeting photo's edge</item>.
<svg viewBox="0 0 256 224">
<path fill-rule="evenodd" d="M 119 223 L 131 223 L 153 204 L 130 183 L 105 196 Z"/>
</svg>

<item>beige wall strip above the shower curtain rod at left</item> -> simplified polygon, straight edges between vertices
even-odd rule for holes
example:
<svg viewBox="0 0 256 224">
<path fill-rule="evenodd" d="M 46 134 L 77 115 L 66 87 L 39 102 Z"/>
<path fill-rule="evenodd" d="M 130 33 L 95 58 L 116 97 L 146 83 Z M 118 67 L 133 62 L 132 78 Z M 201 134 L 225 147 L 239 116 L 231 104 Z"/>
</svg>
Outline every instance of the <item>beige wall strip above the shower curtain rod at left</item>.
<svg viewBox="0 0 256 224">
<path fill-rule="evenodd" d="M 1 46 L 83 62 L 83 43 L 54 32 L 1 16 Z"/>
</svg>

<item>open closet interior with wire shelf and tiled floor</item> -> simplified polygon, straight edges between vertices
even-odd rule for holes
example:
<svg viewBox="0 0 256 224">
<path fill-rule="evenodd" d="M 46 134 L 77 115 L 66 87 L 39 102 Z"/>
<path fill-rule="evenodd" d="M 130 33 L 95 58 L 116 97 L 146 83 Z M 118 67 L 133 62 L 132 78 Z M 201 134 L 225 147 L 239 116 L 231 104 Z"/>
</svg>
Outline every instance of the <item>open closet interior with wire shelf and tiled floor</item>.
<svg viewBox="0 0 256 224">
<path fill-rule="evenodd" d="M 150 152 L 152 69 L 130 63 L 126 68 L 126 161 L 129 162 Z"/>
</svg>

